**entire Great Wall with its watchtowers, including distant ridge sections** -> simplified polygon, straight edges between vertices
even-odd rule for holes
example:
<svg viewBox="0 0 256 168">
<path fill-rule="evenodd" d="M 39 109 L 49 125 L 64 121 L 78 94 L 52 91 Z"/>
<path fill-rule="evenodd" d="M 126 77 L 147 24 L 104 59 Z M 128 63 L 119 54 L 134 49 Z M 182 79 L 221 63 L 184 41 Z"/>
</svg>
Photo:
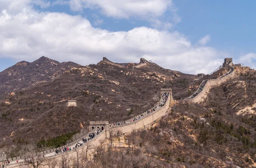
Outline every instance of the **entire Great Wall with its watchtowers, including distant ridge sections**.
<svg viewBox="0 0 256 168">
<path fill-rule="evenodd" d="M 104 60 L 104 58 L 103 58 L 103 60 Z M 107 62 L 109 61 L 106 58 L 105 58 L 105 60 Z M 229 61 L 228 62 L 229 65 L 230 65 L 230 58 L 228 61 Z M 225 62 L 226 62 L 226 59 L 225 59 Z M 111 62 L 111 63 L 115 64 L 113 62 Z M 232 59 L 231 59 L 231 63 L 232 63 Z M 122 65 L 118 65 L 118 66 L 124 68 L 124 66 L 122 66 Z M 226 68 L 226 64 L 225 64 L 225 68 Z M 207 94 L 207 91 L 210 87 L 224 83 L 227 80 L 233 78 L 234 75 L 235 75 L 235 71 L 233 70 L 232 72 L 230 72 L 229 74 L 227 74 L 224 77 L 221 77 L 220 79 L 208 80 L 206 85 L 204 86 L 203 90 L 199 94 L 197 94 L 197 96 L 195 96 L 193 98 L 191 98 L 192 97 L 191 96 L 186 100 L 190 101 L 191 103 L 199 102 L 204 97 L 204 95 Z M 200 86 L 199 86 L 199 88 L 200 88 Z M 67 145 L 64 145 L 60 148 L 54 148 L 54 149 L 51 149 L 48 151 L 43 151 L 43 152 L 34 154 L 34 156 L 35 157 L 44 157 L 47 159 L 55 158 L 57 160 L 60 160 L 61 156 L 66 155 L 66 154 L 70 157 L 76 156 L 76 152 L 85 151 L 89 145 L 94 146 L 94 147 L 100 145 L 102 140 L 109 138 L 110 131 L 120 130 L 120 131 L 122 131 L 122 133 L 129 133 L 133 130 L 144 128 L 146 125 L 149 125 L 152 122 L 154 122 L 155 120 L 163 117 L 166 114 L 167 110 L 169 109 L 170 102 L 173 100 L 172 99 L 172 89 L 171 88 L 162 88 L 160 91 L 160 94 L 162 95 L 165 92 L 169 93 L 166 103 L 162 107 L 157 107 L 155 111 L 153 111 L 149 114 L 147 112 L 144 112 L 140 115 L 137 115 L 136 117 L 131 118 L 130 120 L 116 122 L 116 123 L 119 123 L 117 125 L 116 125 L 116 123 L 109 124 L 108 121 L 91 121 L 90 126 L 89 126 L 89 133 L 96 132 L 96 129 L 98 127 L 102 128 L 102 131 L 96 137 L 94 137 L 92 140 L 88 141 L 87 144 L 76 148 L 76 150 L 67 151 L 67 152 L 64 152 L 61 154 L 55 154 L 56 149 L 64 149 L 66 147 L 73 148 L 77 143 L 82 142 L 83 138 L 88 138 L 89 134 L 86 134 L 85 136 L 79 138 L 78 140 L 71 142 Z M 134 120 L 135 118 L 136 119 L 139 118 L 139 119 Z M 90 149 L 88 151 L 88 155 L 90 155 L 92 153 L 92 150 L 93 149 Z M 18 160 L 18 162 L 17 162 L 17 160 Z M 10 164 L 6 165 L 6 161 L 10 161 Z M 24 157 L 15 157 L 15 158 L 6 159 L 6 154 L 3 154 L 3 155 L 1 154 L 0 168 L 6 168 L 6 167 L 7 168 L 21 168 L 23 165 L 27 165 L 27 163 L 24 161 Z M 41 167 L 44 167 L 44 166 L 41 166 Z"/>
</svg>

